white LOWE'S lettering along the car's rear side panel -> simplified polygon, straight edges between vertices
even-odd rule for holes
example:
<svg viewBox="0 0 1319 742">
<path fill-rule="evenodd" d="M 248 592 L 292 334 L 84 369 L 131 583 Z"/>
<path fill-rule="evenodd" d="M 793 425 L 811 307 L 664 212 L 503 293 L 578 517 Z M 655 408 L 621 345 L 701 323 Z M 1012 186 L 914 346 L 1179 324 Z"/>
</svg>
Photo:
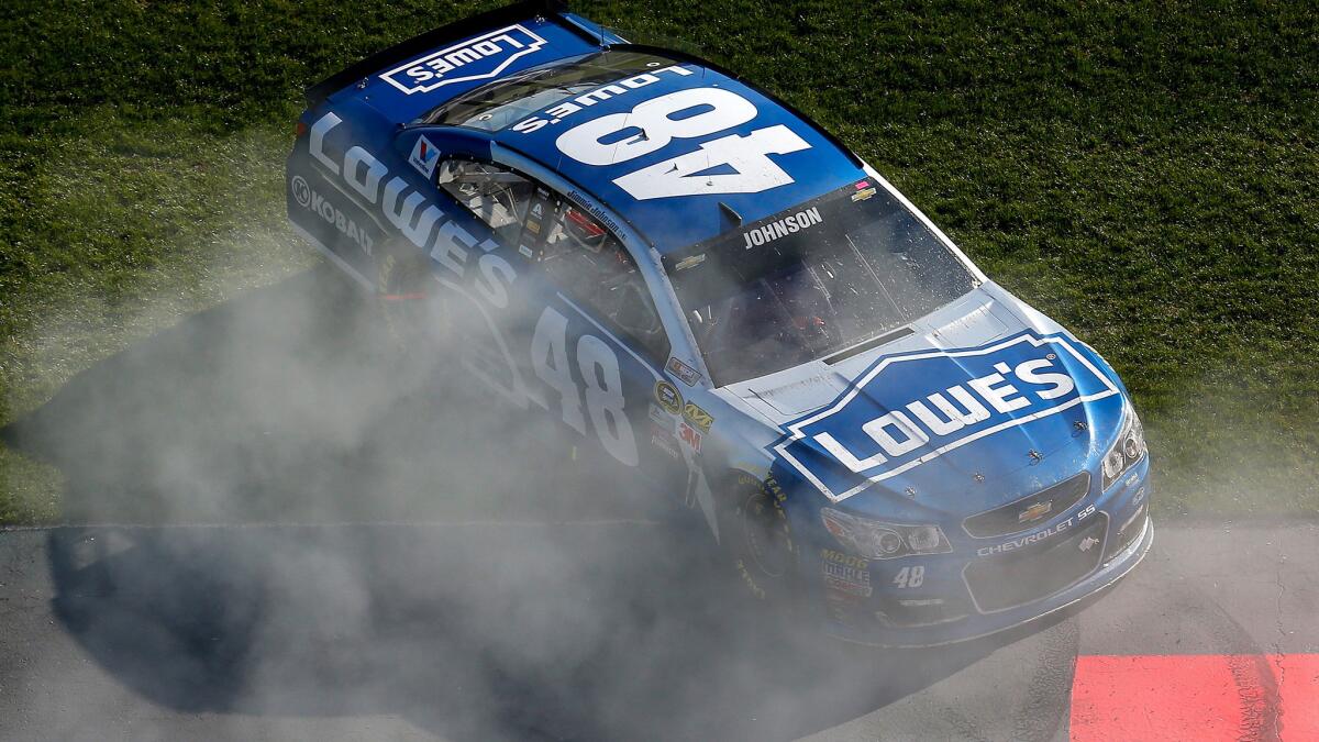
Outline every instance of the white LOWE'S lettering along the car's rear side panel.
<svg viewBox="0 0 1319 742">
<path fill-rule="evenodd" d="M 405 178 L 392 176 L 389 168 L 365 148 L 350 147 L 340 157 L 331 157 L 324 149 L 324 139 L 342 123 L 335 114 L 326 114 L 311 125 L 307 144 L 311 157 L 339 176 L 368 203 L 379 205 L 385 219 L 404 238 L 452 271 L 456 277 L 464 277 L 475 263 L 476 293 L 496 309 L 506 308 L 509 287 L 517 272 L 508 260 L 493 253 L 499 243 L 492 239 L 477 243 L 476 236 L 448 219 L 423 191 L 414 189 Z M 298 197 L 297 189 L 294 197 Z"/>
</svg>

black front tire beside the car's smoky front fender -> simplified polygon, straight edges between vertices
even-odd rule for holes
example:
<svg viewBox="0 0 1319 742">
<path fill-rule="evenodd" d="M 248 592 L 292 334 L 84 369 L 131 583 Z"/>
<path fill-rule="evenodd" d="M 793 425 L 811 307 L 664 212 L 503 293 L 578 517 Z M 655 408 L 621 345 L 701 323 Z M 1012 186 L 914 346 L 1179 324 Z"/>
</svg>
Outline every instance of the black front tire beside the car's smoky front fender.
<svg viewBox="0 0 1319 742">
<path fill-rule="evenodd" d="M 725 553 L 752 597 L 790 606 L 799 602 L 798 548 L 773 487 L 736 473 L 720 498 L 719 533 Z"/>
</svg>

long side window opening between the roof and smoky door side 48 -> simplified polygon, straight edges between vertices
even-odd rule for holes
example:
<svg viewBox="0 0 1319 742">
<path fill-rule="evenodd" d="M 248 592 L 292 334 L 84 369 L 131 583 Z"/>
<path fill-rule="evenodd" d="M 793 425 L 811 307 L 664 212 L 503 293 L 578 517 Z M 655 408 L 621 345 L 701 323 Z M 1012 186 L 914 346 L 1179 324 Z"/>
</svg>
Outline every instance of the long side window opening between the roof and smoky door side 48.
<svg viewBox="0 0 1319 742">
<path fill-rule="evenodd" d="M 435 182 L 493 230 L 496 240 L 538 264 L 565 296 L 663 364 L 669 338 L 645 277 L 595 217 L 488 162 L 446 160 L 437 168 Z"/>
</svg>

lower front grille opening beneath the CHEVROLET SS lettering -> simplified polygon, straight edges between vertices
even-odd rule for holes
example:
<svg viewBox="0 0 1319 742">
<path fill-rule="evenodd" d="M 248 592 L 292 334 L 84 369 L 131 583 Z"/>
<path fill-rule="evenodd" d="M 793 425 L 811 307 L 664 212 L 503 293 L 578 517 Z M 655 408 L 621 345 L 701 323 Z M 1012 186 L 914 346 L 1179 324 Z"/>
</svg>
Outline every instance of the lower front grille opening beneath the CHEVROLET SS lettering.
<svg viewBox="0 0 1319 742">
<path fill-rule="evenodd" d="M 1093 572 L 1104 558 L 1108 515 L 1097 512 L 1089 520 L 1062 537 L 968 564 L 963 577 L 980 611 L 993 613 L 1038 601 Z M 1087 539 L 1097 539 L 1097 543 L 1082 551 Z"/>
</svg>

